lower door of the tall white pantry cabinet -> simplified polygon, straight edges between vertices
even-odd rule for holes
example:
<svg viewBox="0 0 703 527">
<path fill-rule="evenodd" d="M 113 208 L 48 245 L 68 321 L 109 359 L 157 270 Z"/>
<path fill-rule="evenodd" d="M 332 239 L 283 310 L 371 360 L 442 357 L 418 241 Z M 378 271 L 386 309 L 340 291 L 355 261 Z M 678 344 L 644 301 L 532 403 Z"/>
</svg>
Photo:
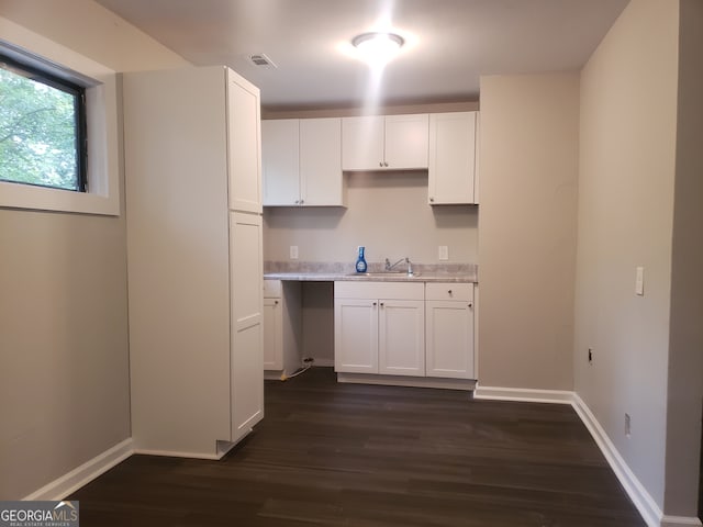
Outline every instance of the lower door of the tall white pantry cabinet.
<svg viewBox="0 0 703 527">
<path fill-rule="evenodd" d="M 232 441 L 264 417 L 261 216 L 230 213 Z"/>
</svg>

